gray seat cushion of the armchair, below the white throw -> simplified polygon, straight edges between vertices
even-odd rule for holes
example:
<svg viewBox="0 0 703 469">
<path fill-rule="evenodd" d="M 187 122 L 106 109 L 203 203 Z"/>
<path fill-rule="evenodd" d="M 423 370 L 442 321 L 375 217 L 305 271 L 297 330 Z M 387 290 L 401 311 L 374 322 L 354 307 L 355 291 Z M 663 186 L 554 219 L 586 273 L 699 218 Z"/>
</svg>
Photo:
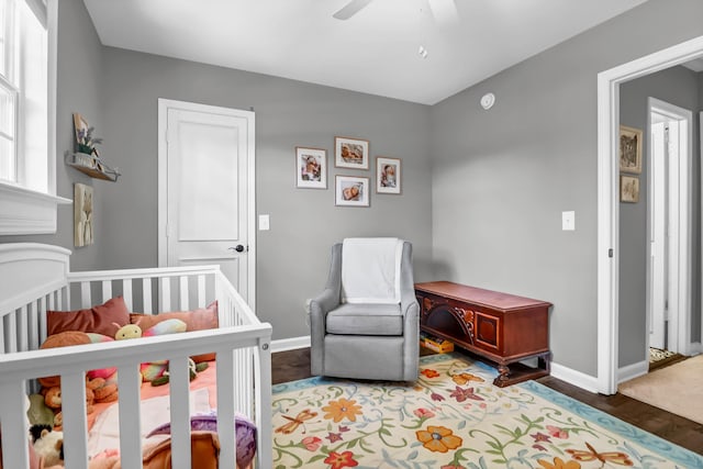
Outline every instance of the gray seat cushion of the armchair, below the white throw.
<svg viewBox="0 0 703 469">
<path fill-rule="evenodd" d="M 400 304 L 342 304 L 327 314 L 326 333 L 402 336 Z"/>
</svg>

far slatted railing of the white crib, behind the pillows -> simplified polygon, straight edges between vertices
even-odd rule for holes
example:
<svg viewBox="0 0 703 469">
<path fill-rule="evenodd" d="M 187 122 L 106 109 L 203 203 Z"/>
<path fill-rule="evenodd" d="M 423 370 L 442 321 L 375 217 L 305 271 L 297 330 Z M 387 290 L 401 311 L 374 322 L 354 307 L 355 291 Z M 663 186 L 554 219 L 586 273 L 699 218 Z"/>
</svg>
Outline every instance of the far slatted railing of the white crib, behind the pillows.
<svg viewBox="0 0 703 469">
<path fill-rule="evenodd" d="M 67 277 L 68 286 L 65 280 L 56 282 L 23 294 L 19 302 L 8 302 L 9 311 L 0 310 L 0 353 L 38 348 L 46 339 L 47 310 L 91 308 L 116 295 L 124 298 L 127 310 L 144 314 L 204 308 L 216 298 L 221 327 L 259 323 L 217 266 L 70 272 Z"/>
</svg>

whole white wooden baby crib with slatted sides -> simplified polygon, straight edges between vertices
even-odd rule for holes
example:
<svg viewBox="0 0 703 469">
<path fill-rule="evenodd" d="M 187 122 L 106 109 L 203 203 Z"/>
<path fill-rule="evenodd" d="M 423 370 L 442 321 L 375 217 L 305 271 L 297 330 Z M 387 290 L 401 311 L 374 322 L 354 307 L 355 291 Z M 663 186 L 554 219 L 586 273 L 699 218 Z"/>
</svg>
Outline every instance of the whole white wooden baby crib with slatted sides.
<svg viewBox="0 0 703 469">
<path fill-rule="evenodd" d="M 138 367 L 169 359 L 172 467 L 190 467 L 188 357 L 216 353 L 220 467 L 235 467 L 235 412 L 256 423 L 256 467 L 271 468 L 271 327 L 261 323 L 216 266 L 70 272 L 70 252 L 0 244 L 0 427 L 4 468 L 29 467 L 25 395 L 34 380 L 62 377 L 65 414 L 86 415 L 86 371 L 118 367 L 120 454 L 142 467 Z M 46 311 L 90 308 L 123 295 L 130 311 L 186 311 L 219 302 L 219 330 L 40 350 Z M 171 308 L 174 305 L 174 308 Z M 65 420 L 65 466 L 88 468 L 87 420 Z"/>
</svg>

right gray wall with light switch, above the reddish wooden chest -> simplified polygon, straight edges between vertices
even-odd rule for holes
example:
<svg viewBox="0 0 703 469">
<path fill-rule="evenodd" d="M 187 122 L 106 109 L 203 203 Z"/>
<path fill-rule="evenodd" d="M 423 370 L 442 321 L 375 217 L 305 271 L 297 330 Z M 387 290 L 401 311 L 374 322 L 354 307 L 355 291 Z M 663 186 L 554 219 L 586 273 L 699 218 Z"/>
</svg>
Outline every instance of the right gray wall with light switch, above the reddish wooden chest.
<svg viewBox="0 0 703 469">
<path fill-rule="evenodd" d="M 700 0 L 650 0 L 432 109 L 437 278 L 551 301 L 554 359 L 587 375 L 598 365 L 596 76 L 702 35 L 701 18 Z M 496 103 L 483 111 L 489 91 Z M 574 232 L 561 231 L 567 210 Z"/>
</svg>

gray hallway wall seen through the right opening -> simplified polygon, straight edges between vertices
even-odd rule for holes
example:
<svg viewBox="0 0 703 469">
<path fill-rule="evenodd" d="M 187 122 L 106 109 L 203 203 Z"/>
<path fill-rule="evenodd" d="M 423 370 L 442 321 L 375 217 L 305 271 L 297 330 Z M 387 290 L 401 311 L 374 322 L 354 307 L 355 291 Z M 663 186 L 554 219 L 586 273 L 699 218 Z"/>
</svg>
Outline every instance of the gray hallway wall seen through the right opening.
<svg viewBox="0 0 703 469">
<path fill-rule="evenodd" d="M 620 204 L 621 280 L 620 280 L 620 366 L 633 365 L 646 357 L 647 343 L 647 205 L 648 157 L 647 99 L 657 98 L 693 112 L 693 227 L 691 333 L 694 342 L 701 339 L 701 165 L 699 147 L 699 74 L 684 67 L 672 67 L 626 82 L 620 89 L 621 124 L 641 129 L 643 171 L 639 175 L 639 202 Z"/>
</svg>

